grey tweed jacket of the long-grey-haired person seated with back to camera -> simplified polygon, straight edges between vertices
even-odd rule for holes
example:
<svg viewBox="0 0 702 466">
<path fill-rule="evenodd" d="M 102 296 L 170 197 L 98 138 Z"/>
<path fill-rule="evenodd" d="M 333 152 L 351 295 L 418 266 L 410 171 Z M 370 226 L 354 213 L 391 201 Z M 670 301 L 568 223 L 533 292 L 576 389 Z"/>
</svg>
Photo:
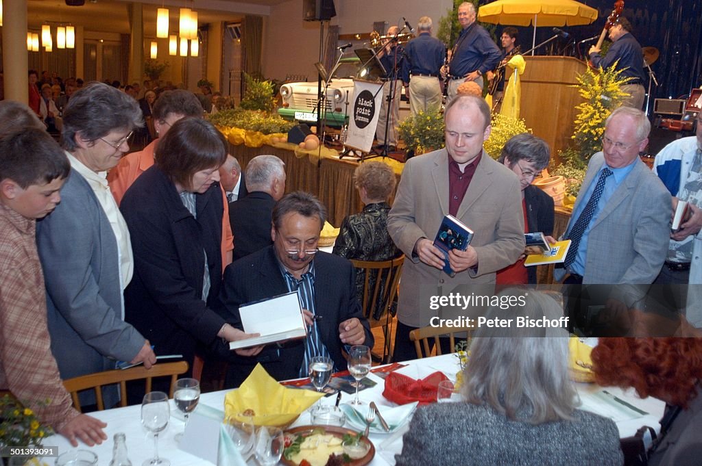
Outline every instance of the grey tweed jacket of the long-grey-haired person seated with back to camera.
<svg viewBox="0 0 702 466">
<path fill-rule="evenodd" d="M 573 420 L 531 425 L 489 406 L 420 406 L 402 439 L 396 466 L 623 464 L 612 420 L 576 409 Z"/>
</svg>

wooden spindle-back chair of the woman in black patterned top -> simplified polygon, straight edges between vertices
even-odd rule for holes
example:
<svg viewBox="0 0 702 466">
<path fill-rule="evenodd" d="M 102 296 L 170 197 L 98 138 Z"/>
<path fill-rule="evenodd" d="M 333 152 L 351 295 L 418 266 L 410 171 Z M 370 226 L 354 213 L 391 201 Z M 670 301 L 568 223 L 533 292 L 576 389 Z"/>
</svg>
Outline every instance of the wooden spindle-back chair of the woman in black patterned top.
<svg viewBox="0 0 702 466">
<path fill-rule="evenodd" d="M 404 255 L 388 261 L 351 260 L 356 273 L 364 273 L 363 315 L 371 329 L 383 327 L 383 355 L 380 359 L 389 362 L 392 358 L 392 317 L 397 313 L 397 287 L 402 275 Z"/>
</svg>

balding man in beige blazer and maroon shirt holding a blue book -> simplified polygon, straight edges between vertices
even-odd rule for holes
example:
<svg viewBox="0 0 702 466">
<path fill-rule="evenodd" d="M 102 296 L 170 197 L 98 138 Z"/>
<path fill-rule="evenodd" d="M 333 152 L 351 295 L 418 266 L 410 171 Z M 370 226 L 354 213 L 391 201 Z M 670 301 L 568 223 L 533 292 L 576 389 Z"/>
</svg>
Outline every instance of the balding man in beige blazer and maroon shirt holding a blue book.
<svg viewBox="0 0 702 466">
<path fill-rule="evenodd" d="M 461 96 L 444 113 L 446 149 L 413 158 L 404 167 L 388 232 L 405 261 L 397 309 L 395 359 L 416 357 L 409 332 L 430 324 L 426 294 L 456 287 L 494 291 L 495 273 L 524 252 L 524 214 L 519 179 L 483 151 L 490 135 L 485 100 Z M 454 277 L 442 272 L 444 255 L 433 245 L 444 215 L 475 232 L 468 249 L 449 253 Z M 477 285 L 483 285 L 478 287 Z"/>
</svg>

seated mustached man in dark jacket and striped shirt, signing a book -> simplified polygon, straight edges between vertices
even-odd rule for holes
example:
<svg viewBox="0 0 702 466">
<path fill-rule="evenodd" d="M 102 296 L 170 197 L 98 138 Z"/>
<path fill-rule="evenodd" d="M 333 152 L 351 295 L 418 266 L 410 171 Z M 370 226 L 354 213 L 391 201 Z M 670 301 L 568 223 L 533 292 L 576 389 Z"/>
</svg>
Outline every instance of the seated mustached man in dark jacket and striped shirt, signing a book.
<svg viewBox="0 0 702 466">
<path fill-rule="evenodd" d="M 356 299 L 353 266 L 317 248 L 325 217 L 324 206 L 311 194 L 288 194 L 273 209 L 273 245 L 234 261 L 225 270 L 220 313 L 235 327 L 241 327 L 239 306 L 294 291 L 312 323 L 306 338 L 266 345 L 257 357 L 232 357 L 228 387 L 239 386 L 257 362 L 282 381 L 307 377 L 307 364 L 314 356 L 329 356 L 335 371 L 345 370 L 343 349 L 373 346 L 368 321 Z"/>
</svg>

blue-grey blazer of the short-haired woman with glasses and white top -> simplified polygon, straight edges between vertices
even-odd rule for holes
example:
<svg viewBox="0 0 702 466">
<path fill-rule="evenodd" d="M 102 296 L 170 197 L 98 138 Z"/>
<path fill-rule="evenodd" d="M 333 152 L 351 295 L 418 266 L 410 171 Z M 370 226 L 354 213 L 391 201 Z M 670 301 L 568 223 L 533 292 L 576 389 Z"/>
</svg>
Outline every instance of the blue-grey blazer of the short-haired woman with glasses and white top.
<svg viewBox="0 0 702 466">
<path fill-rule="evenodd" d="M 145 338 L 121 319 L 117 240 L 88 181 L 75 170 L 61 189 L 61 203 L 37 221 L 37 247 L 61 378 L 131 361 Z"/>
</svg>

